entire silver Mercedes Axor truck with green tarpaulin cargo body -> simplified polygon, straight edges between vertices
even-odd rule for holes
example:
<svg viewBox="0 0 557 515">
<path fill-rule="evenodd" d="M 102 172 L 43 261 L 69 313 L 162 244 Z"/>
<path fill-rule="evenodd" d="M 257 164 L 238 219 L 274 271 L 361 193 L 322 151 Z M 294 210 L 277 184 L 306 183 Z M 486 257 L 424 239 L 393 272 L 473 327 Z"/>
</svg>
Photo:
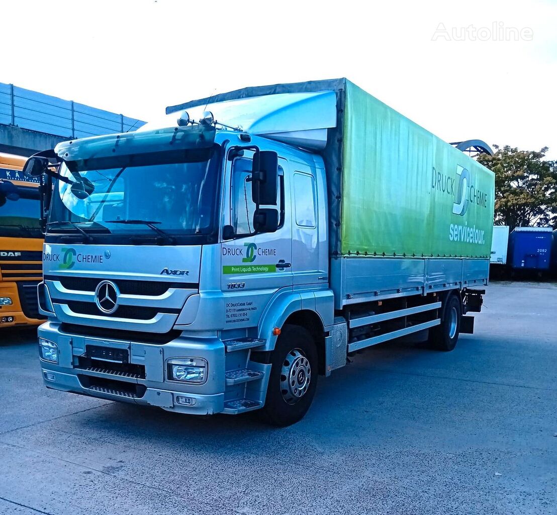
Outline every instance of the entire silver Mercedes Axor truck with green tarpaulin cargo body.
<svg viewBox="0 0 557 515">
<path fill-rule="evenodd" d="M 493 174 L 346 79 L 172 106 L 25 172 L 48 388 L 288 425 L 351 353 L 449 351 L 481 308 Z"/>
</svg>

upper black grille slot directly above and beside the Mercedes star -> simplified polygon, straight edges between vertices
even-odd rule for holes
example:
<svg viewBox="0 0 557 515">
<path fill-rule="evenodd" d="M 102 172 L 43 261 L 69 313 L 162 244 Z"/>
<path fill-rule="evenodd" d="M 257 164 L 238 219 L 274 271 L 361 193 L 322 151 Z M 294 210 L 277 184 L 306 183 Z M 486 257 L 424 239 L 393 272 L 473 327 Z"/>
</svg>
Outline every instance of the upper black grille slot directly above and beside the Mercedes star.
<svg viewBox="0 0 557 515">
<path fill-rule="evenodd" d="M 97 285 L 105 280 L 93 277 L 66 277 L 45 276 L 46 280 L 60 281 L 62 286 L 68 290 L 95 291 Z M 118 286 L 120 293 L 125 295 L 148 295 L 158 297 L 166 293 L 170 288 L 182 288 L 188 290 L 199 289 L 198 283 L 170 283 L 168 281 L 140 281 L 133 279 L 111 279 Z"/>
</svg>

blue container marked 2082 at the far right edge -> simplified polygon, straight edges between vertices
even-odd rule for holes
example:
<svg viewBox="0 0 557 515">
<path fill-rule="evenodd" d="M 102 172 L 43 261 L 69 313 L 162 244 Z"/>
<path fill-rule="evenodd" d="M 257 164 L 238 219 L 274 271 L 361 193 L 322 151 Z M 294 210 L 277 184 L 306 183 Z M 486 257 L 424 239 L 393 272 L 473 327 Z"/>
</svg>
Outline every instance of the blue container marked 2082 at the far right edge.
<svg viewBox="0 0 557 515">
<path fill-rule="evenodd" d="M 515 269 L 548 270 L 551 232 L 551 227 L 516 227 L 509 235 L 507 262 Z"/>
</svg>

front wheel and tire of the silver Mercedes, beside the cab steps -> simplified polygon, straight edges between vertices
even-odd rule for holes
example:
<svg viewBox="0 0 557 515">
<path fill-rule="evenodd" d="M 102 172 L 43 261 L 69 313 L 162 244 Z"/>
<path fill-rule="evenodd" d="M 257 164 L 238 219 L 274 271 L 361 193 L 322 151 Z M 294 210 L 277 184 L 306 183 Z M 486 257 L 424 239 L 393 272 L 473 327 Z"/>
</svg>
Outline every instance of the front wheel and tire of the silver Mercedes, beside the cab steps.
<svg viewBox="0 0 557 515">
<path fill-rule="evenodd" d="M 303 327 L 284 325 L 271 364 L 261 415 L 275 426 L 295 424 L 309 410 L 317 387 L 317 349 L 311 334 Z"/>
</svg>

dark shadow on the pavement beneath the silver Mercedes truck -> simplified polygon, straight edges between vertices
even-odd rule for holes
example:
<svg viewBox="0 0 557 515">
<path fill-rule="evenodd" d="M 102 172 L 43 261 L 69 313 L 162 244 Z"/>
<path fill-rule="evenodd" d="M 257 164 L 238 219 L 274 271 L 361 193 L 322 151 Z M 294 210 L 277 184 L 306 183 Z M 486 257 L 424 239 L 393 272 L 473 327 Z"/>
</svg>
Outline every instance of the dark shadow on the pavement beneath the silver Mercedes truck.
<svg viewBox="0 0 557 515">
<path fill-rule="evenodd" d="M 460 342 L 463 346 L 466 342 Z M 433 354 L 433 358 L 432 358 Z M 414 336 L 379 344 L 351 358 L 352 363 L 324 378 L 319 377 L 314 402 L 302 419 L 290 427 L 266 424 L 257 411 L 242 415 L 183 415 L 154 407 L 113 403 L 99 411 L 92 411 L 86 424 L 95 417 L 102 431 L 115 435 L 122 432 L 126 440 L 145 439 L 165 447 L 175 444 L 232 446 L 241 449 L 251 439 L 265 447 L 276 448 L 277 439 L 291 439 L 300 434 L 316 434 L 346 430 L 350 420 L 372 419 L 367 414 L 379 412 L 385 393 L 389 390 L 384 376 L 373 369 L 390 368 L 393 364 L 409 370 L 414 362 L 438 359 L 446 353 L 428 351 L 423 338 Z M 435 357 L 437 356 L 437 358 Z M 358 423 L 359 423 L 358 422 Z M 341 429 L 342 428 L 342 429 Z M 361 429 L 361 428 L 360 428 Z"/>
</svg>

